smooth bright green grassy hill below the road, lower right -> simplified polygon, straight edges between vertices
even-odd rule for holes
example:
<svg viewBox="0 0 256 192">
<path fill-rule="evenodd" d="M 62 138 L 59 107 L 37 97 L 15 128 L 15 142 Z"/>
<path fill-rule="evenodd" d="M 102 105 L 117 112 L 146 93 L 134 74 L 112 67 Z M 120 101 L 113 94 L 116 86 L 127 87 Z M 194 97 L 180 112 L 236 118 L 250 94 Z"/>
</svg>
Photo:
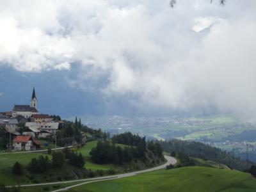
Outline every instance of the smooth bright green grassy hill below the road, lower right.
<svg viewBox="0 0 256 192">
<path fill-rule="evenodd" d="M 248 173 L 206 167 L 186 167 L 160 170 L 124 179 L 86 184 L 70 189 L 79 191 L 256 191 L 256 179 Z"/>
</svg>

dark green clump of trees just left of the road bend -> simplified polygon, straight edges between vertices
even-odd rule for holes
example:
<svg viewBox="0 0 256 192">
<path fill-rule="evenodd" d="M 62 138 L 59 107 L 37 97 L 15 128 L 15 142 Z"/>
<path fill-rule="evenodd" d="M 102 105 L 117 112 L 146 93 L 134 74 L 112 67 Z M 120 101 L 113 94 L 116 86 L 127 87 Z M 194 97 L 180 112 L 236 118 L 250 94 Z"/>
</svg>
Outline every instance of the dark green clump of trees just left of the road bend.
<svg viewBox="0 0 256 192">
<path fill-rule="evenodd" d="M 120 147 L 117 144 L 124 144 L 127 147 Z M 92 148 L 90 155 L 94 163 L 131 163 L 133 159 L 143 159 L 147 150 L 155 156 L 163 158 L 163 150 L 159 143 L 151 141 L 147 143 L 145 137 L 125 132 L 113 136 L 112 140 L 99 141 L 97 146 Z"/>
</svg>

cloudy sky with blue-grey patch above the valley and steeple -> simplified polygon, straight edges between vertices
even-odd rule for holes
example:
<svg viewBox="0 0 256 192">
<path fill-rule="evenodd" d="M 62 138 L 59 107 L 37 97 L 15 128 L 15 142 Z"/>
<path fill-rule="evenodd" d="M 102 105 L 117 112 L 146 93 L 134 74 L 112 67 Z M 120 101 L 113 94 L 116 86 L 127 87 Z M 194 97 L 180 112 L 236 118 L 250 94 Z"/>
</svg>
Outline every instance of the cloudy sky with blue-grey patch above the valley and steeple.
<svg viewBox="0 0 256 192">
<path fill-rule="evenodd" d="M 0 111 L 256 120 L 256 1 L 0 0 Z"/>
</svg>

